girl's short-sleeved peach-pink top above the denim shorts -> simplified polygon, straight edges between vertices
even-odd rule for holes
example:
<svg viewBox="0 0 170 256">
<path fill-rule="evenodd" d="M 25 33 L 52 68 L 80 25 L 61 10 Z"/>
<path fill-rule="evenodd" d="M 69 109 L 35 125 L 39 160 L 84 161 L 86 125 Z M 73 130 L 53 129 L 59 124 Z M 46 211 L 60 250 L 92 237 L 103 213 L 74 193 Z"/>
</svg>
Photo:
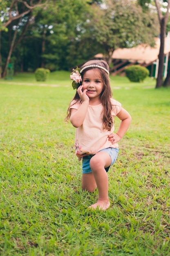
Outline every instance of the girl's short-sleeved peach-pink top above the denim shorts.
<svg viewBox="0 0 170 256">
<path fill-rule="evenodd" d="M 110 99 L 112 102 L 112 118 L 120 112 L 121 103 L 114 99 Z M 81 101 L 72 101 L 70 108 L 77 109 L 81 106 Z M 103 105 L 88 106 L 87 113 L 83 124 L 76 128 L 75 135 L 75 148 L 76 155 L 79 160 L 84 155 L 95 155 L 98 151 L 104 148 L 118 148 L 118 144 L 112 144 L 108 140 L 107 136 L 114 132 L 114 126 L 111 131 L 103 129 L 103 121 L 101 112 Z"/>
</svg>

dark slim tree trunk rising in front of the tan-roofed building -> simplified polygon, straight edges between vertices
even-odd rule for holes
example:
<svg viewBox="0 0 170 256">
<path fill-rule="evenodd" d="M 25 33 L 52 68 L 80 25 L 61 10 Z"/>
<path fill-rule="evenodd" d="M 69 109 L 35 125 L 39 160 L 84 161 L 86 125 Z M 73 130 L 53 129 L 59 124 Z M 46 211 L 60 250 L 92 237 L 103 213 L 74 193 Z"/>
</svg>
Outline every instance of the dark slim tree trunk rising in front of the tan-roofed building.
<svg viewBox="0 0 170 256">
<path fill-rule="evenodd" d="M 165 20 L 161 19 L 161 45 L 159 49 L 159 67 L 156 88 L 160 88 L 163 84 L 163 67 L 164 67 L 164 44 L 165 44 Z"/>
</svg>

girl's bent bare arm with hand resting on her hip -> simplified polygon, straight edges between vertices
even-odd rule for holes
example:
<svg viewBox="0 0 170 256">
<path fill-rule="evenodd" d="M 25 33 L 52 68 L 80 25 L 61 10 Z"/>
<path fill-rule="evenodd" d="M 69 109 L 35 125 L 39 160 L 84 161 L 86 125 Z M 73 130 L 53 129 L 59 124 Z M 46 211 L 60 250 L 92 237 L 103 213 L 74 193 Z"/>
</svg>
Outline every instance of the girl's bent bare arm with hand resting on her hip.
<svg viewBox="0 0 170 256">
<path fill-rule="evenodd" d="M 132 120 L 130 114 L 124 108 L 121 108 L 121 111 L 117 114 L 117 117 L 121 120 L 119 130 L 116 133 L 112 133 L 108 136 L 108 139 L 112 142 L 112 144 L 120 141 L 123 138 Z"/>
</svg>

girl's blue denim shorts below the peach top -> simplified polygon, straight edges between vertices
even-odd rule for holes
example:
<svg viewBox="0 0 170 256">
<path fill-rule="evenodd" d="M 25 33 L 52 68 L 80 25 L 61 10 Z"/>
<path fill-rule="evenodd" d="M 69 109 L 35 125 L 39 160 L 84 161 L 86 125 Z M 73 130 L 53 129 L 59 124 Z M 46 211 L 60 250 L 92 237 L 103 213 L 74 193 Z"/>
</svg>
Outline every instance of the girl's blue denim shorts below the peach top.
<svg viewBox="0 0 170 256">
<path fill-rule="evenodd" d="M 110 155 L 110 157 L 111 157 L 111 165 L 110 166 L 112 166 L 117 159 L 117 155 L 119 153 L 119 148 L 105 148 L 98 152 L 101 152 L 101 151 L 105 151 Z M 90 159 L 93 156 L 94 155 L 86 155 L 85 157 L 82 157 L 82 173 L 91 173 L 92 172 L 92 170 L 90 168 Z M 106 172 L 109 171 L 110 166 L 105 168 Z"/>
</svg>

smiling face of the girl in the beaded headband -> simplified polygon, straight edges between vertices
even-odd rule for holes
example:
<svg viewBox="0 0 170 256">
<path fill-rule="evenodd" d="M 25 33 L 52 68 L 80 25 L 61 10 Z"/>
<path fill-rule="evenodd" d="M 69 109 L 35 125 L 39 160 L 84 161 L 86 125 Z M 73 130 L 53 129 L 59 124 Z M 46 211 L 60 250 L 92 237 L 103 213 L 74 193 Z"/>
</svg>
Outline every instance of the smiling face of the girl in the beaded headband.
<svg viewBox="0 0 170 256">
<path fill-rule="evenodd" d="M 87 70 L 83 75 L 83 90 L 87 89 L 89 99 L 100 99 L 100 94 L 103 90 L 103 81 L 101 73 L 97 69 Z"/>
</svg>

